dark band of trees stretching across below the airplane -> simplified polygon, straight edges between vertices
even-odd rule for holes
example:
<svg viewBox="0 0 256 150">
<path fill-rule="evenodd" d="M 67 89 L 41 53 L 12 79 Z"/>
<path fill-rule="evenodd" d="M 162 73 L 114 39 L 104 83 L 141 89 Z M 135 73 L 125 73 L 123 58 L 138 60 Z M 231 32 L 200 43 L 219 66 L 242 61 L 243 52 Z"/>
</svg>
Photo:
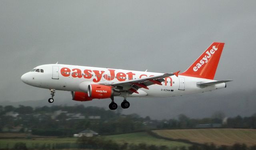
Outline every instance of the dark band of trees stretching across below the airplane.
<svg viewBox="0 0 256 150">
<path fill-rule="evenodd" d="M 2 109 L 1 109 L 2 108 Z M 236 116 L 226 119 L 224 114 L 214 113 L 209 118 L 194 119 L 184 114 L 169 120 L 152 120 L 149 116 L 141 117 L 138 114 L 124 115 L 122 110 L 111 111 L 99 107 L 76 106 L 30 106 L 14 107 L 0 106 L 0 128 L 21 126 L 32 130 L 32 134 L 42 136 L 72 136 L 90 128 L 99 134 L 128 133 L 149 129 L 186 129 L 196 128 L 198 124 L 220 124 L 221 128 L 256 128 L 256 114 L 249 117 Z M 62 110 L 56 118 L 52 118 L 55 111 Z M 14 118 L 6 116 L 7 112 L 16 112 Z M 80 113 L 84 119 L 68 120 L 67 113 Z M 100 116 L 100 119 L 90 119 L 88 116 Z M 24 130 L 21 130 L 21 132 Z"/>
</svg>

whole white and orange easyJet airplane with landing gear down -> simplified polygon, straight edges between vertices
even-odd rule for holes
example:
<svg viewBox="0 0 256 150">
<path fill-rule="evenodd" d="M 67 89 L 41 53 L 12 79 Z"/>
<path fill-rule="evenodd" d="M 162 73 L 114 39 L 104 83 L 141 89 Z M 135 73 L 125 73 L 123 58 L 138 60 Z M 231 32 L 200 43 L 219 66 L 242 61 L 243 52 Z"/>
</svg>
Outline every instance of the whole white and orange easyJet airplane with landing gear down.
<svg viewBox="0 0 256 150">
<path fill-rule="evenodd" d="M 21 80 L 38 88 L 50 89 L 48 102 L 54 102 L 56 90 L 71 91 L 75 101 L 110 98 L 110 110 L 118 105 L 114 96 L 123 97 L 121 107 L 129 108 L 128 97 L 183 96 L 220 88 L 232 80 L 214 80 L 224 43 L 213 42 L 183 73 L 156 73 L 133 70 L 45 64 L 21 76 Z"/>
</svg>

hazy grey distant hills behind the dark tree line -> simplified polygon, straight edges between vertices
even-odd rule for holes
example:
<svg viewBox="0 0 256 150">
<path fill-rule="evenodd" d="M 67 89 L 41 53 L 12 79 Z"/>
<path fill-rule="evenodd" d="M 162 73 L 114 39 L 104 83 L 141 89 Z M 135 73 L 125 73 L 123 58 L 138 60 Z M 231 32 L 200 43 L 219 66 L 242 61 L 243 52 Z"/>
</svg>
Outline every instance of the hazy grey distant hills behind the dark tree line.
<svg viewBox="0 0 256 150">
<path fill-rule="evenodd" d="M 62 97 L 62 98 L 61 98 Z M 215 90 L 200 94 L 178 96 L 170 98 L 128 98 L 129 109 L 122 109 L 122 114 L 136 113 L 142 117 L 150 116 L 152 119 L 162 120 L 176 118 L 179 114 L 185 114 L 190 118 L 210 117 L 216 111 L 221 111 L 228 117 L 251 116 L 256 113 L 255 90 L 234 91 L 226 93 L 225 90 Z M 115 101 L 121 104 L 123 98 L 117 97 Z M 52 104 L 48 103 L 48 97 L 44 100 L 29 100 L 20 102 L 0 101 L 0 105 L 24 105 L 24 106 L 52 106 L 83 104 L 84 106 L 98 106 L 108 108 L 110 99 L 77 102 L 71 100 L 68 93 L 58 93 Z M 120 107 L 120 106 L 119 106 Z M 160 110 L 160 111 L 159 111 Z M 157 112 L 157 113 L 156 113 Z"/>
</svg>

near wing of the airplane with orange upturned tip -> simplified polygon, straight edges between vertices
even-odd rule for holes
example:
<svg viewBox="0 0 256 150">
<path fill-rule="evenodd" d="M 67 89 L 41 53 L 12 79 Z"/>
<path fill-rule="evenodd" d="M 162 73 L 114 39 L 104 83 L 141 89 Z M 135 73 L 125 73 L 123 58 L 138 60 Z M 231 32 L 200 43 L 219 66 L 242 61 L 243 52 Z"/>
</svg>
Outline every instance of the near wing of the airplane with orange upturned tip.
<svg viewBox="0 0 256 150">
<path fill-rule="evenodd" d="M 178 71 L 179 72 L 179 71 Z M 153 84 L 162 85 L 161 82 L 164 81 L 164 78 L 168 76 L 176 75 L 178 76 L 178 72 L 175 73 L 167 73 L 167 74 L 160 74 L 156 76 L 149 76 L 140 79 L 133 79 L 121 82 L 113 82 L 113 83 L 105 83 L 105 85 L 113 86 L 117 91 L 128 91 L 130 94 L 137 93 L 139 88 L 149 89 L 148 86 Z"/>
</svg>

